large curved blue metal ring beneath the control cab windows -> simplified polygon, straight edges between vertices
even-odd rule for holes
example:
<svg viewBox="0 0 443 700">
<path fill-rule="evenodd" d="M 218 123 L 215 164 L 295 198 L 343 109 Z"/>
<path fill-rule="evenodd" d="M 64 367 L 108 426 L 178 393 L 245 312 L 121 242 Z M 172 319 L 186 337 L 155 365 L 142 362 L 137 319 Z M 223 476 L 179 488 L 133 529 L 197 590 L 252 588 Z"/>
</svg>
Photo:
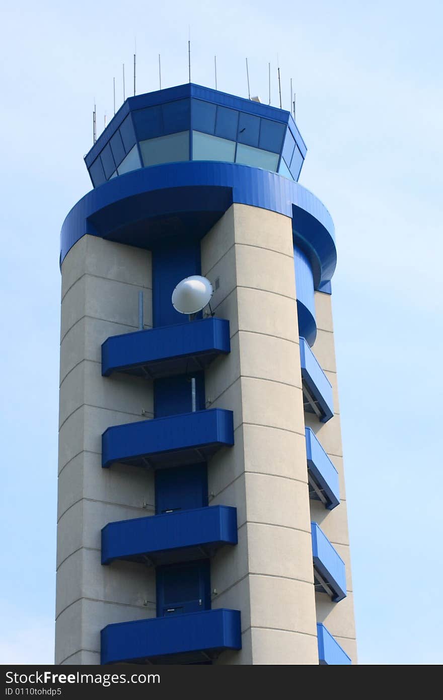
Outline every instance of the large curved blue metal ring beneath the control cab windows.
<svg viewBox="0 0 443 700">
<path fill-rule="evenodd" d="M 200 238 L 232 202 L 290 216 L 295 243 L 311 262 L 315 288 L 332 277 L 334 225 L 314 195 L 276 173 L 211 161 L 141 168 L 87 193 L 66 216 L 60 260 L 85 233 L 153 248 L 170 236 L 172 216 L 179 235 Z"/>
</svg>

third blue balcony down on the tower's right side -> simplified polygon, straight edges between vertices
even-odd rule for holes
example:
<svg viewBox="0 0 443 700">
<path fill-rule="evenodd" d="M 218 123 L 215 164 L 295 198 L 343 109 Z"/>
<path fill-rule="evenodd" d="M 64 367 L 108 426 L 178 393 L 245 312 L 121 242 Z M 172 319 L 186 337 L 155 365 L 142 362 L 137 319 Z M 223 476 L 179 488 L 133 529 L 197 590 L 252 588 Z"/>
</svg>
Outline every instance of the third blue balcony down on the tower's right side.
<svg viewBox="0 0 443 700">
<path fill-rule="evenodd" d="M 311 538 L 315 589 L 338 603 L 346 598 L 344 561 L 316 523 L 311 523 Z"/>
</svg>

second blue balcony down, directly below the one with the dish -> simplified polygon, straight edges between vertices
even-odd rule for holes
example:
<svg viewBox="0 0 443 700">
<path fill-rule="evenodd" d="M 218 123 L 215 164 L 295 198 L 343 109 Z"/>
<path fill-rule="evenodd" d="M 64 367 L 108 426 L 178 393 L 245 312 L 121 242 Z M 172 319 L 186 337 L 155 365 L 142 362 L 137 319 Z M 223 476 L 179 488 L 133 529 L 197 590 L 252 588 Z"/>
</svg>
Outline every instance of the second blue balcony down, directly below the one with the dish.
<svg viewBox="0 0 443 700">
<path fill-rule="evenodd" d="M 211 408 L 112 426 L 101 436 L 101 465 L 171 467 L 206 462 L 234 444 L 232 411 Z"/>
</svg>

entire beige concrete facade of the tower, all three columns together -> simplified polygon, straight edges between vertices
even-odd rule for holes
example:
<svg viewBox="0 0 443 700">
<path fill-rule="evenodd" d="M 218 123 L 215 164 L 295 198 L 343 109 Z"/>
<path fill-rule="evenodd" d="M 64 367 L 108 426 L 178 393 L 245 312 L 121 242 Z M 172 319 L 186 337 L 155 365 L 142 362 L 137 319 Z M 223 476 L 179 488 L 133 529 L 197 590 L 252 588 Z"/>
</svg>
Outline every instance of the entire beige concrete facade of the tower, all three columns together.
<svg viewBox="0 0 443 700">
<path fill-rule="evenodd" d="M 355 662 L 339 414 L 323 424 L 303 412 L 290 218 L 234 204 L 202 239 L 202 274 L 231 335 L 230 354 L 206 369 L 206 407 L 233 411 L 235 439 L 208 463 L 209 504 L 236 507 L 239 528 L 238 545 L 211 559 L 211 597 L 241 610 L 242 649 L 216 663 L 318 664 L 316 621 Z M 100 563 L 104 525 L 155 512 L 153 472 L 101 468 L 101 433 L 153 416 L 150 381 L 101 377 L 101 343 L 136 330 L 139 290 L 152 325 L 151 288 L 149 251 L 97 237 L 62 265 L 57 664 L 99 664 L 101 628 L 155 616 L 153 568 Z M 314 353 L 336 386 L 330 295 L 316 293 L 316 313 Z M 333 511 L 309 500 L 305 420 L 339 470 Z M 341 603 L 315 594 L 311 519 L 346 561 Z"/>
</svg>

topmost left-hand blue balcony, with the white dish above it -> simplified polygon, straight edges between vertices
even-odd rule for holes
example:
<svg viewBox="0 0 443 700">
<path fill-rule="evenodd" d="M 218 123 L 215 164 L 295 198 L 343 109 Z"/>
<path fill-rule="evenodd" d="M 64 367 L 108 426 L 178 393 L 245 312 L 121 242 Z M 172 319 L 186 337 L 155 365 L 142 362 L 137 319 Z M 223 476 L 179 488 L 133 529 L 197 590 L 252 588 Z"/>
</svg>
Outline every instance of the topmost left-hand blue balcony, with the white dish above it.
<svg viewBox="0 0 443 700">
<path fill-rule="evenodd" d="M 229 321 L 204 318 L 109 337 L 101 346 L 101 374 L 126 372 L 157 379 L 199 372 L 229 352 Z"/>
</svg>

